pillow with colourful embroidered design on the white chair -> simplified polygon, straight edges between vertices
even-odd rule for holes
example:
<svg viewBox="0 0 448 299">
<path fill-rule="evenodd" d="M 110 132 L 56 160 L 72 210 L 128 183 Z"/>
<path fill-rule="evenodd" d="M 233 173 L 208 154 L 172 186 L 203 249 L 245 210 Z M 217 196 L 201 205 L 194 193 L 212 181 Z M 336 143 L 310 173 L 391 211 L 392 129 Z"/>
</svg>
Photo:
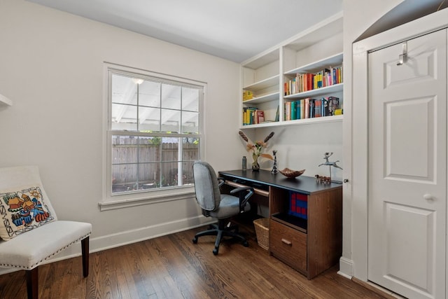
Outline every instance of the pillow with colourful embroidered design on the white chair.
<svg viewBox="0 0 448 299">
<path fill-rule="evenodd" d="M 16 190 L 0 191 L 0 237 L 13 237 L 55 220 L 41 186 L 38 184 Z"/>
</svg>

